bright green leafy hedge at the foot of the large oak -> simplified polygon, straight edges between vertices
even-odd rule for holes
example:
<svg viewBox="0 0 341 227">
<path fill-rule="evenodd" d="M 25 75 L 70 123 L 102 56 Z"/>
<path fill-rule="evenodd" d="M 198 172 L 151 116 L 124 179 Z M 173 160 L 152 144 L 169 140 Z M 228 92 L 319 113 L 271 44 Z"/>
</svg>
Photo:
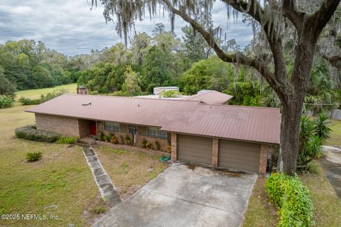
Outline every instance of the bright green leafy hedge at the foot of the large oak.
<svg viewBox="0 0 341 227">
<path fill-rule="evenodd" d="M 301 179 L 283 173 L 273 173 L 266 179 L 266 192 L 278 209 L 278 226 L 313 226 L 313 203 Z"/>
</svg>

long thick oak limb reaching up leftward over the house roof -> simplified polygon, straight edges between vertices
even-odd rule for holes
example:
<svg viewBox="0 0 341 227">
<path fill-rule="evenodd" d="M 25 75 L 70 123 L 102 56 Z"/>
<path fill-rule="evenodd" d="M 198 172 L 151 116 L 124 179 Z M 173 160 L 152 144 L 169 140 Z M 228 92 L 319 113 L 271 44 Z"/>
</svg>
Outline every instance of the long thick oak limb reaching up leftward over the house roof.
<svg viewBox="0 0 341 227">
<path fill-rule="evenodd" d="M 261 62 L 261 60 L 257 60 L 251 57 L 247 57 L 242 52 L 236 52 L 234 54 L 227 54 L 224 52 L 219 45 L 215 42 L 215 37 L 212 33 L 207 32 L 197 21 L 193 20 L 188 13 L 185 12 L 185 9 L 175 9 L 170 1 L 163 0 L 163 3 L 166 4 L 169 11 L 175 13 L 176 15 L 183 18 L 184 21 L 190 23 L 190 25 L 198 31 L 203 38 L 205 38 L 206 42 L 211 46 L 213 50 L 217 53 L 217 56 L 220 57 L 224 62 L 238 62 L 242 65 L 248 65 L 250 67 L 254 67 L 269 83 L 269 85 L 274 89 L 274 91 L 278 94 L 282 101 L 286 100 L 286 86 L 282 82 L 278 81 L 278 78 L 270 72 L 266 64 Z M 278 46 L 277 46 L 278 48 Z M 283 55 L 282 55 L 283 58 Z M 285 69 L 285 65 L 284 65 Z"/>
</svg>

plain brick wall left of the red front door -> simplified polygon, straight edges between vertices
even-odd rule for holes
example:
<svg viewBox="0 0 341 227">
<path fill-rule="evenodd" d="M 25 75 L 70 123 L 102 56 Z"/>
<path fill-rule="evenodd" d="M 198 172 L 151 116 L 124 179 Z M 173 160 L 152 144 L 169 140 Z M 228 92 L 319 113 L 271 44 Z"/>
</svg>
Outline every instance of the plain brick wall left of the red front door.
<svg viewBox="0 0 341 227">
<path fill-rule="evenodd" d="M 77 118 L 36 114 L 36 126 L 39 130 L 51 131 L 67 136 L 80 136 Z"/>
</svg>

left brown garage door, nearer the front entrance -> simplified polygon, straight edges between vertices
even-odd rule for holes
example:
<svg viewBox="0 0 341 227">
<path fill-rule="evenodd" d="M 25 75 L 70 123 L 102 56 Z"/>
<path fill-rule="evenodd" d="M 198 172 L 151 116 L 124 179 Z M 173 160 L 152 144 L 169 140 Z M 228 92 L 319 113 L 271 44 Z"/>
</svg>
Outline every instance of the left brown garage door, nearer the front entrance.
<svg viewBox="0 0 341 227">
<path fill-rule="evenodd" d="M 178 160 L 212 165 L 212 139 L 178 135 Z"/>
</svg>

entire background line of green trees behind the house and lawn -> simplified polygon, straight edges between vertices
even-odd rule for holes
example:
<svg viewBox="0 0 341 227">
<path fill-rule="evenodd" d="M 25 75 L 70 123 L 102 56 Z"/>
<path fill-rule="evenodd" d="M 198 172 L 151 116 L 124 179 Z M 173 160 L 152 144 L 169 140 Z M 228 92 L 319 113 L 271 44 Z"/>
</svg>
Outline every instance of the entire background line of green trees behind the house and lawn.
<svg viewBox="0 0 341 227">
<path fill-rule="evenodd" d="M 0 45 L 0 98 L 6 105 L 11 103 L 17 89 L 77 82 L 85 85 L 90 94 L 136 96 L 151 94 L 153 87 L 178 86 L 180 92 L 187 95 L 201 89 L 230 94 L 234 96 L 230 104 L 281 105 L 276 93 L 256 70 L 238 62 L 222 62 L 199 33 L 193 33 L 189 26 L 182 30 L 180 39 L 158 23 L 153 35 L 134 35 L 129 48 L 117 43 L 111 48 L 73 57 L 50 50 L 41 42 L 9 41 Z M 226 52 L 240 50 L 234 40 L 218 43 Z M 251 46 L 244 52 L 256 55 Z M 290 75 L 293 68 L 290 58 L 287 68 Z M 318 113 L 339 107 L 340 84 L 331 76 L 330 69 L 330 64 L 322 57 L 315 58 L 305 98 L 306 109 Z M 26 103 L 29 102 L 26 100 Z"/>
</svg>

